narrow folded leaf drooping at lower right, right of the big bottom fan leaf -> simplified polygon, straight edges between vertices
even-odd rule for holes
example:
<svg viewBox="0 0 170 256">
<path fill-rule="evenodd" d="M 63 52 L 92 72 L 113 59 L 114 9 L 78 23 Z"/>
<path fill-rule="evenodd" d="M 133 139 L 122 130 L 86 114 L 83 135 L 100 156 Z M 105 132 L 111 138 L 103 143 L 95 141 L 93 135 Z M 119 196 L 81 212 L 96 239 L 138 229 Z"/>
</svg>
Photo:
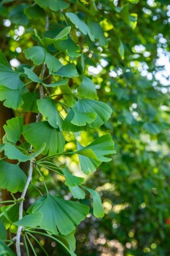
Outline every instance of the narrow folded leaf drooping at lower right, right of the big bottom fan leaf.
<svg viewBox="0 0 170 256">
<path fill-rule="evenodd" d="M 97 218 L 104 217 L 104 208 L 103 208 L 99 193 L 96 192 L 95 190 L 91 190 L 90 188 L 86 188 L 86 187 L 83 187 L 83 188 L 85 188 L 89 193 L 91 193 L 91 195 L 93 197 L 93 214 L 94 214 L 94 216 L 96 216 Z"/>
</svg>

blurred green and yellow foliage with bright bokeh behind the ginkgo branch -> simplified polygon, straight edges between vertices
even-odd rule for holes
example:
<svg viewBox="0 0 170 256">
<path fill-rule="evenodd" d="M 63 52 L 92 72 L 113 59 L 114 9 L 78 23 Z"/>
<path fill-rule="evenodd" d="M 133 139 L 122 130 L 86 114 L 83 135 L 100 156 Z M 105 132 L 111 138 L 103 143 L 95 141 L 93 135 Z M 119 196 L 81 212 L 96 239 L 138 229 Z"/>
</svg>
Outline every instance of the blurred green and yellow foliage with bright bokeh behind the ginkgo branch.
<svg viewBox="0 0 170 256">
<path fill-rule="evenodd" d="M 78 74 L 84 75 L 75 76 L 72 66 L 67 70 L 68 78 L 72 77 L 69 72 L 74 74 L 69 86 L 77 90 L 78 96 L 89 98 L 89 94 L 84 95 L 84 88 L 89 84 L 89 92 L 94 82 L 98 96 L 93 89 L 92 98 L 106 102 L 113 109 L 112 118 L 101 128 L 82 132 L 84 144 L 98 135 L 111 133 L 117 154 L 112 162 L 102 164 L 86 178 L 86 186 L 97 188 L 102 196 L 106 215 L 102 220 L 96 219 L 90 209 L 90 215 L 76 231 L 76 254 L 169 255 L 168 1 L 73 0 L 58 1 L 58 5 L 38 0 L 2 1 L 0 14 L 1 49 L 12 66 L 17 63 L 14 59 L 21 63 L 16 67 L 19 71 L 23 70 L 23 64 L 27 68 L 33 64 L 28 59 L 34 57 L 26 49 L 40 44 L 34 29 L 39 35 L 54 37 L 64 27 L 72 27 L 68 41 L 56 43 L 59 56 L 51 46 L 49 52 L 60 57 L 63 64 L 76 64 Z M 40 63 L 40 59 L 34 59 L 34 64 Z M 39 67 L 36 72 L 41 72 Z M 50 81 L 47 79 L 46 83 Z M 1 98 L 1 87 L 0 90 Z M 64 89 L 55 93 L 62 100 Z M 27 124 L 35 122 L 35 115 L 29 114 L 30 110 L 37 112 L 33 102 L 34 99 L 26 101 L 23 109 L 15 110 L 17 116 L 23 116 L 24 110 Z M 43 111 L 41 106 L 38 108 Z M 1 109 L 1 123 L 5 124 L 5 118 L 11 118 L 13 113 L 3 106 Z M 68 150 L 75 149 L 73 140 L 71 135 L 67 137 Z M 67 164 L 74 174 L 80 175 L 75 156 L 60 156 L 55 161 Z M 62 177 L 49 175 L 46 168 L 41 171 L 50 191 L 57 190 L 61 197 L 72 198 Z M 29 203 L 37 196 L 36 190 L 30 188 Z M 86 197 L 82 203 L 89 204 L 89 200 Z M 43 245 L 44 238 L 39 238 Z M 53 255 L 65 253 L 54 241 L 45 240 L 44 247 Z M 39 247 L 36 252 L 42 255 Z"/>
</svg>

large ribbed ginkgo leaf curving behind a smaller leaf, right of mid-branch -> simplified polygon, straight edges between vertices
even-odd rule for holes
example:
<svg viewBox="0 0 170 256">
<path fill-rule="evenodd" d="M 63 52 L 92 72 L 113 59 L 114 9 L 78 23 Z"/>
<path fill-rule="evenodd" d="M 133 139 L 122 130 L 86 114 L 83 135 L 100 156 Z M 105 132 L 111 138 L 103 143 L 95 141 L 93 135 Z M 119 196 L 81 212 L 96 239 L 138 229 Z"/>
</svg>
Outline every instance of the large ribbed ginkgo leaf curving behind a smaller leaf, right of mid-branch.
<svg viewBox="0 0 170 256">
<path fill-rule="evenodd" d="M 77 104 L 74 106 L 74 109 L 85 112 L 85 113 L 96 113 L 97 117 L 89 124 L 90 128 L 99 128 L 104 122 L 106 122 L 111 114 L 112 108 L 105 104 L 104 102 L 100 102 L 98 100 L 78 100 Z"/>
</svg>

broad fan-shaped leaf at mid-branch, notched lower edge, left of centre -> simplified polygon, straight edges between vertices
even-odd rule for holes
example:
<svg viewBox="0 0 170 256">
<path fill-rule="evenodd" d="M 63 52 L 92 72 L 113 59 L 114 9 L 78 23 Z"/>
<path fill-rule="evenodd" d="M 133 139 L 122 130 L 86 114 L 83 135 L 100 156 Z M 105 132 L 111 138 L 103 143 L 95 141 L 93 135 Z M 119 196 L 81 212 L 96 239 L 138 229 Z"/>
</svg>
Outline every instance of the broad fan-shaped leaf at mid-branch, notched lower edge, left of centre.
<svg viewBox="0 0 170 256">
<path fill-rule="evenodd" d="M 46 154 L 49 150 L 49 155 L 62 153 L 64 150 L 64 137 L 62 132 L 56 130 L 48 124 L 48 122 L 37 122 L 27 124 L 23 127 L 23 135 L 27 142 L 38 149 L 42 142 L 46 144 L 42 154 Z"/>
</svg>

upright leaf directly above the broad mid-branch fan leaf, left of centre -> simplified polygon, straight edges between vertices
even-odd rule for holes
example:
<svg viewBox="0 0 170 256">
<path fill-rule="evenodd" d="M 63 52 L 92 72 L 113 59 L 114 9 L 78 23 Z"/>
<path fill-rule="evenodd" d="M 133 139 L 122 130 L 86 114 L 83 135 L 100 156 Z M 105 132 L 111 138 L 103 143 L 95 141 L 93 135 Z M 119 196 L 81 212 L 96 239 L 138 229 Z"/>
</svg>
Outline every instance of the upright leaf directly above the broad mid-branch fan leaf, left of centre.
<svg viewBox="0 0 170 256">
<path fill-rule="evenodd" d="M 54 127 L 61 130 L 62 126 L 62 118 L 56 109 L 56 104 L 54 100 L 51 98 L 42 98 L 41 100 L 37 100 L 37 105 L 39 108 L 39 112 L 46 118 L 48 123 Z"/>
</svg>

